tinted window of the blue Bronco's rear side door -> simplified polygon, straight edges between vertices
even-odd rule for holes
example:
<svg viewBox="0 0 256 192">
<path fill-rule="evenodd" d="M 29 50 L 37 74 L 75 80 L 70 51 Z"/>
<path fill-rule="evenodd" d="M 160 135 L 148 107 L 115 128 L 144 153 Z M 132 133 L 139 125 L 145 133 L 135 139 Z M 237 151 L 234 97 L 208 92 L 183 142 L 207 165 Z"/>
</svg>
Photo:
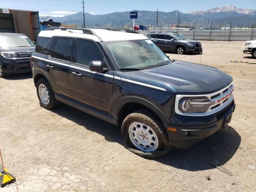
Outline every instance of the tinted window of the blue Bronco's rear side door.
<svg viewBox="0 0 256 192">
<path fill-rule="evenodd" d="M 51 56 L 56 59 L 69 60 L 71 38 L 58 38 L 53 48 Z"/>
</svg>

